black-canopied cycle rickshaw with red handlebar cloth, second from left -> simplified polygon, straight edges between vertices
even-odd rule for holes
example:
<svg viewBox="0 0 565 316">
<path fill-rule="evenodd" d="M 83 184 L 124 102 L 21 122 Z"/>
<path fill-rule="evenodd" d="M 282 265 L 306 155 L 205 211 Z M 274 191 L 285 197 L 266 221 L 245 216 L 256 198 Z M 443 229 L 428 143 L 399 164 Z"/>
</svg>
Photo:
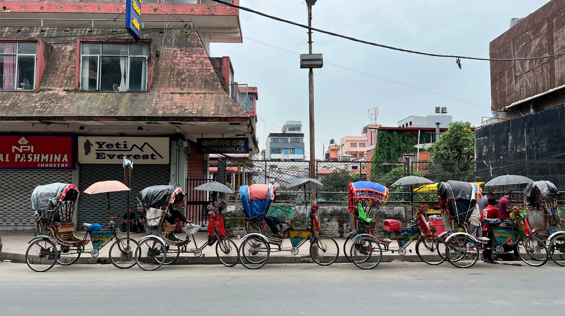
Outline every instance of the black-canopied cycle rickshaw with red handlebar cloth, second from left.
<svg viewBox="0 0 565 316">
<path fill-rule="evenodd" d="M 184 199 L 184 191 L 175 186 L 151 186 L 139 192 L 137 200 L 140 207 L 145 210 L 147 236 L 139 240 L 139 251 L 136 260 L 141 269 L 151 271 L 157 270 L 161 265 L 173 264 L 180 253 L 193 253 L 195 257 L 202 256 L 202 250 L 208 245 L 216 243 L 216 256 L 221 264 L 232 267 L 237 264 L 237 246 L 233 240 L 227 238 L 224 230 L 224 221 L 221 214 L 210 217 L 208 226 L 209 238 L 200 247 L 196 244 L 194 232 L 200 226 L 192 225 L 188 230 L 186 238 L 182 239 L 175 235 L 175 218 L 166 218 L 171 208 L 177 208 Z M 169 223 L 171 221 L 172 223 Z M 195 248 L 189 248 L 189 234 L 192 235 Z"/>
</svg>

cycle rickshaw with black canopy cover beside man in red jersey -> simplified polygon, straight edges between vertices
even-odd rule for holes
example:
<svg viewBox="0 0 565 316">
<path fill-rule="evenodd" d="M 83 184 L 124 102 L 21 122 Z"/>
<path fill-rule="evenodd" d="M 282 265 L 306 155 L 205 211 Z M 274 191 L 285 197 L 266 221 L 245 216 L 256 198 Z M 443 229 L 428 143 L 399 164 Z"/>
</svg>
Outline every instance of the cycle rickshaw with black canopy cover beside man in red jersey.
<svg viewBox="0 0 565 316">
<path fill-rule="evenodd" d="M 547 262 L 547 248 L 538 238 L 532 236 L 527 222 L 527 210 L 515 208 L 516 221 L 485 219 L 483 224 L 493 231 L 494 239 L 476 238 L 467 232 L 453 233 L 450 219 L 461 225 L 471 217 L 477 200 L 481 199 L 481 187 L 462 181 L 446 181 L 437 185 L 441 219 L 446 231 L 446 259 L 460 268 L 471 267 L 479 260 L 479 251 L 490 249 L 495 254 L 514 251 L 518 257 L 531 266 L 542 266 Z"/>
</svg>

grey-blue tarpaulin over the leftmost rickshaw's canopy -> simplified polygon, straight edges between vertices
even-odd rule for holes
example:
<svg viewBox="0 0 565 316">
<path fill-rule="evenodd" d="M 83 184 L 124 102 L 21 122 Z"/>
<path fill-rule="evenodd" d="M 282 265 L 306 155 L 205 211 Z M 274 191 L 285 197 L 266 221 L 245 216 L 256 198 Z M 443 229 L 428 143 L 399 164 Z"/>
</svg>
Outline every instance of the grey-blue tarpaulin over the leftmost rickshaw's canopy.
<svg viewBox="0 0 565 316">
<path fill-rule="evenodd" d="M 52 210 L 60 201 L 77 199 L 79 199 L 79 189 L 67 183 L 37 186 L 32 193 L 32 209 Z"/>
</svg>

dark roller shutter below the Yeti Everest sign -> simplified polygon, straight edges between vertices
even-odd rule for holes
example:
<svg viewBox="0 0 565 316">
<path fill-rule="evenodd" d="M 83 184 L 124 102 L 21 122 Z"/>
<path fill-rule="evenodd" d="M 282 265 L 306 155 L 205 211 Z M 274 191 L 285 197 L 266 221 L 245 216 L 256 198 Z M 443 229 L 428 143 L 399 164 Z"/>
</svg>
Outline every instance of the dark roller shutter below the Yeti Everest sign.
<svg viewBox="0 0 565 316">
<path fill-rule="evenodd" d="M 137 194 L 143 188 L 156 185 L 169 184 L 170 166 L 160 165 L 134 165 L 132 170 L 132 191 L 129 192 L 129 206 L 133 208 L 137 218 Z M 117 180 L 123 181 L 124 167 L 121 164 L 80 164 L 79 190 L 86 190 L 92 183 L 98 181 Z M 128 210 L 126 192 L 110 193 L 110 207 L 112 215 L 122 217 Z M 81 193 L 79 198 L 79 229 L 82 223 L 99 223 L 105 225 L 108 218 L 108 204 L 106 194 L 88 195 Z"/>
</svg>

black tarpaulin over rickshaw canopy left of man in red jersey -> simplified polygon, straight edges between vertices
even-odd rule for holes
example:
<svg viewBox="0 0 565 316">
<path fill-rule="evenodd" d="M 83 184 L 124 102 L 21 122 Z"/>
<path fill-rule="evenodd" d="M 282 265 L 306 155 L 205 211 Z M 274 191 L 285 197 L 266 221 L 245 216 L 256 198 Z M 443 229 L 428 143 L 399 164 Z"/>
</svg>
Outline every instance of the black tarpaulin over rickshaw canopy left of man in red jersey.
<svg viewBox="0 0 565 316">
<path fill-rule="evenodd" d="M 440 207 L 449 208 L 449 215 L 455 222 L 463 224 L 469 221 L 477 199 L 481 199 L 481 187 L 462 181 L 449 180 L 437 184 Z"/>
</svg>

